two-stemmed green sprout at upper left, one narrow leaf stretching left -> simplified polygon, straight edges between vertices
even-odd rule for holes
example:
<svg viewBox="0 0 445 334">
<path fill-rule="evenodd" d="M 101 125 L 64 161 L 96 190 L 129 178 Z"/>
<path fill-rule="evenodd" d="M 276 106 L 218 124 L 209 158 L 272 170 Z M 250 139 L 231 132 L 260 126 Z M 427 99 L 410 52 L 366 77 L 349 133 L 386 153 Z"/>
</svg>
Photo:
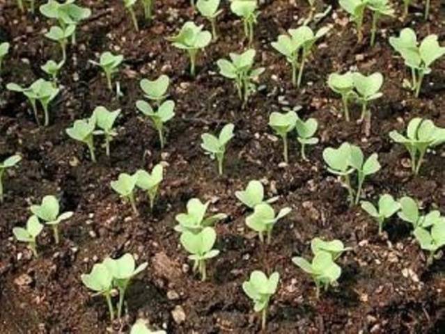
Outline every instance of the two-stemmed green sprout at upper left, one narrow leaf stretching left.
<svg viewBox="0 0 445 334">
<path fill-rule="evenodd" d="M 13 83 L 8 84 L 6 88 L 8 88 L 8 90 L 13 90 L 14 92 L 23 93 L 26 97 L 28 97 L 38 125 L 40 125 L 40 122 L 37 114 L 36 101 L 39 101 L 45 113 L 44 125 L 45 127 L 49 125 L 49 103 L 52 102 L 52 100 L 54 100 L 54 98 L 58 95 L 60 92 L 59 88 L 55 88 L 50 81 L 46 81 L 45 79 L 38 79 L 34 81 L 29 88 L 23 88 L 22 86 Z"/>
</svg>

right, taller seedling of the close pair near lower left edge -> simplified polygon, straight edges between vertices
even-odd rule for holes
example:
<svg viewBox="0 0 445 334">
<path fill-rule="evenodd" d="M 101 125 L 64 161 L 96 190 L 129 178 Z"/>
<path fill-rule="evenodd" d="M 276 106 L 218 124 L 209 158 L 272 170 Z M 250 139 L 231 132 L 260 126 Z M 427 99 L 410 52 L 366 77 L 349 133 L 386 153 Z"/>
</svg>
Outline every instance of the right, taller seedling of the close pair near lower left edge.
<svg viewBox="0 0 445 334">
<path fill-rule="evenodd" d="M 71 218 L 73 214 L 72 212 L 63 212 L 59 215 L 60 205 L 54 196 L 45 196 L 40 205 L 31 205 L 31 212 L 52 227 L 56 244 L 60 242 L 58 224 Z"/>
</svg>

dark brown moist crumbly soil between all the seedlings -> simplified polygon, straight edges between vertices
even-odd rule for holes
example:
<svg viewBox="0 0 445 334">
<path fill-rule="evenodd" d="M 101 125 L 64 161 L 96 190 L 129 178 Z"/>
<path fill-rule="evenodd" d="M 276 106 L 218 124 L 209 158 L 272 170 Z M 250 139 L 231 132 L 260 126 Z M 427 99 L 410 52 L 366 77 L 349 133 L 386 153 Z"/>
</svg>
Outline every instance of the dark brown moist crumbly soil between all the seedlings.
<svg viewBox="0 0 445 334">
<path fill-rule="evenodd" d="M 151 22 L 143 22 L 139 12 L 139 33 L 121 1 L 77 2 L 90 7 L 93 15 L 79 28 L 77 45 L 68 47 L 49 127 L 37 127 L 24 97 L 6 90 L 8 82 L 29 85 L 44 77 L 40 65 L 60 58 L 58 46 L 43 37 L 49 22 L 41 15 L 19 13 L 15 1 L 0 3 L 0 40 L 13 45 L 0 79 L 0 158 L 15 153 L 23 157 L 5 177 L 6 200 L 0 206 L 1 334 L 128 333 L 139 317 L 168 333 L 260 333 L 258 317 L 241 287 L 256 269 L 281 275 L 268 333 L 444 333 L 444 260 L 428 267 L 408 226 L 397 218 L 378 236 L 373 218 L 359 207 L 348 207 L 346 190 L 322 162 L 324 148 L 355 143 L 366 156 L 377 152 L 382 164 L 382 170 L 366 180 L 366 198 L 408 195 L 426 210 L 445 208 L 443 148 L 429 152 L 421 173 L 413 177 L 407 153 L 388 136 L 393 129 L 403 131 L 414 116 L 445 126 L 445 60 L 435 63 L 415 99 L 402 87 L 409 72 L 388 43 L 390 35 L 412 26 L 421 38 L 438 34 L 443 44 L 445 10 L 439 1 L 432 1 L 428 22 L 421 4 L 414 4 L 405 21 L 382 19 L 373 48 L 368 47 L 370 17 L 365 19 L 366 38 L 358 43 L 336 1 L 319 3 L 318 11 L 329 4 L 333 11 L 313 28 L 331 24 L 332 29 L 315 48 L 299 90 L 290 84 L 290 67 L 270 42 L 297 27 L 309 7 L 302 0 L 260 1 L 253 47 L 258 50 L 256 65 L 266 70 L 258 93 L 244 109 L 233 84 L 217 73 L 215 64 L 247 47 L 242 22 L 230 13 L 227 1 L 218 22 L 221 37 L 201 53 L 196 78 L 188 74 L 187 56 L 166 40 L 189 19 L 210 29 L 188 0 L 156 1 Z M 89 62 L 103 51 L 125 56 L 116 75 L 123 93 L 119 99 Z M 357 122 L 358 108 L 352 109 L 351 122 L 343 120 L 341 102 L 326 85 L 329 73 L 354 68 L 384 74 L 384 96 L 370 106 L 370 136 Z M 142 98 L 139 80 L 160 74 L 171 77 L 169 93 L 176 103 L 164 150 L 157 132 L 134 106 Z M 96 140 L 98 161 L 93 164 L 86 147 L 70 139 L 65 129 L 98 105 L 122 109 L 122 115 L 111 157 Z M 300 117 L 317 118 L 320 143 L 309 148 L 305 162 L 292 138 L 290 164 L 284 166 L 281 141 L 267 122 L 272 111 L 294 106 L 302 106 Z M 201 134 L 217 132 L 227 122 L 235 125 L 235 138 L 226 154 L 225 174 L 218 176 L 216 163 L 200 148 Z M 146 196 L 139 193 L 141 214 L 136 217 L 109 183 L 119 173 L 150 169 L 160 161 L 166 173 L 155 209 L 150 212 Z M 246 228 L 249 212 L 234 196 L 253 179 L 263 181 L 267 196 L 279 196 L 276 208 L 292 207 L 276 225 L 270 246 L 262 246 Z M 48 194 L 61 198 L 63 210 L 75 215 L 63 223 L 60 245 L 54 245 L 50 230 L 40 234 L 40 256 L 34 258 L 13 239 L 12 230 L 24 225 L 31 203 Z M 173 230 L 175 214 L 184 212 L 194 197 L 210 200 L 211 212 L 228 215 L 217 224 L 221 254 L 210 262 L 205 283 L 189 269 Z M 341 239 L 353 248 L 339 260 L 343 273 L 338 287 L 319 300 L 309 276 L 290 260 L 310 257 L 310 241 L 316 236 Z M 125 317 L 110 324 L 104 299 L 92 296 L 80 276 L 104 257 L 127 252 L 149 265 L 127 292 Z"/>
</svg>

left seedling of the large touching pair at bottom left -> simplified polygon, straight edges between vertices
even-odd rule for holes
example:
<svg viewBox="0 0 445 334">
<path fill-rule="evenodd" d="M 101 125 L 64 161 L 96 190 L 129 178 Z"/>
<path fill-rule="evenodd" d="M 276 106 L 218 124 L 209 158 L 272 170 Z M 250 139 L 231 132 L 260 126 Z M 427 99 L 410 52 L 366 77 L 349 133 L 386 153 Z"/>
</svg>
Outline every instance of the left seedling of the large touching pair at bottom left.
<svg viewBox="0 0 445 334">
<path fill-rule="evenodd" d="M 95 264 L 91 273 L 81 275 L 82 283 L 96 294 L 102 294 L 107 300 L 111 321 L 114 321 L 114 308 L 111 303 L 111 290 L 113 289 L 113 275 L 103 264 Z"/>
</svg>

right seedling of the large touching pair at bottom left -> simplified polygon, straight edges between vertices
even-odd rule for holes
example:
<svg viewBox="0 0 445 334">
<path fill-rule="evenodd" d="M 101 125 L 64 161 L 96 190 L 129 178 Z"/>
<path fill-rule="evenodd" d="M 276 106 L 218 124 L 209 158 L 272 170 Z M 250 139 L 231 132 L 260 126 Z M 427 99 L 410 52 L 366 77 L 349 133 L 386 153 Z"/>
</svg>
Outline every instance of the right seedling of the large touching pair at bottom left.
<svg viewBox="0 0 445 334">
<path fill-rule="evenodd" d="M 107 267 L 111 276 L 113 276 L 113 285 L 119 290 L 118 318 L 120 318 L 122 315 L 125 292 L 127 291 L 131 280 L 136 277 L 138 273 L 141 273 L 141 271 L 146 269 L 148 263 L 143 262 L 143 264 L 140 264 L 136 268 L 136 262 L 134 261 L 133 255 L 127 253 L 116 260 L 107 257 L 103 264 Z"/>
</svg>

